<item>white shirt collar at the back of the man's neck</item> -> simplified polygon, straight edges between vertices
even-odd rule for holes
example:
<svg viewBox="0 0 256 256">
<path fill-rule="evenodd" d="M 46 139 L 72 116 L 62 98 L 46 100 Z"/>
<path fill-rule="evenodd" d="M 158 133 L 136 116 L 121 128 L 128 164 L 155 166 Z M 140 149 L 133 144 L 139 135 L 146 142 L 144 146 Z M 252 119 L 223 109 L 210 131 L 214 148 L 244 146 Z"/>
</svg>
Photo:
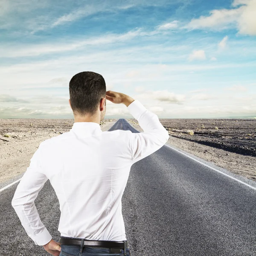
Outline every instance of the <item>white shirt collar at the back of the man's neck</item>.
<svg viewBox="0 0 256 256">
<path fill-rule="evenodd" d="M 84 136 L 99 135 L 102 133 L 100 125 L 96 122 L 74 122 L 70 131 Z"/>
</svg>

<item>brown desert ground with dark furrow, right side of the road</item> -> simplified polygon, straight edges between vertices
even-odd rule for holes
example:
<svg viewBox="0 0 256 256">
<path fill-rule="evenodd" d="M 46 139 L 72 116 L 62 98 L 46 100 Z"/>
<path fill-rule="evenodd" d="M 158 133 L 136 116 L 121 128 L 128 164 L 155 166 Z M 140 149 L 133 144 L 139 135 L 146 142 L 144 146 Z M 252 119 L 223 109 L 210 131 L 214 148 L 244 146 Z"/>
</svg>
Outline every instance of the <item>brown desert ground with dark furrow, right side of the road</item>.
<svg viewBox="0 0 256 256">
<path fill-rule="evenodd" d="M 169 130 L 167 142 L 235 174 L 256 180 L 256 120 L 159 119 Z M 127 119 L 138 131 L 136 119 Z M 205 128 L 201 128 L 204 125 Z M 215 129 L 218 127 L 218 130 Z M 193 130 L 194 134 L 187 133 Z M 248 135 L 250 134 L 250 135 Z M 250 154 L 250 155 L 249 155 Z"/>
</svg>

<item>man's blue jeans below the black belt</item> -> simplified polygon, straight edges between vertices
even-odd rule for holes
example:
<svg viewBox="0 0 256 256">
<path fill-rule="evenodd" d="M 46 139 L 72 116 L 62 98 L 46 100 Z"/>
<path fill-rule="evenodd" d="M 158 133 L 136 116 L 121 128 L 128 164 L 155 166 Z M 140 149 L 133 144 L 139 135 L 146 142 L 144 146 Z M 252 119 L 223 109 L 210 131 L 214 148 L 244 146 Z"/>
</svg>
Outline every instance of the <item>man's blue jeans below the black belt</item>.
<svg viewBox="0 0 256 256">
<path fill-rule="evenodd" d="M 108 247 L 93 247 L 79 245 L 61 244 L 61 253 L 59 256 L 131 256 L 129 247 L 126 251 L 121 249 L 120 253 L 112 253 Z"/>
</svg>

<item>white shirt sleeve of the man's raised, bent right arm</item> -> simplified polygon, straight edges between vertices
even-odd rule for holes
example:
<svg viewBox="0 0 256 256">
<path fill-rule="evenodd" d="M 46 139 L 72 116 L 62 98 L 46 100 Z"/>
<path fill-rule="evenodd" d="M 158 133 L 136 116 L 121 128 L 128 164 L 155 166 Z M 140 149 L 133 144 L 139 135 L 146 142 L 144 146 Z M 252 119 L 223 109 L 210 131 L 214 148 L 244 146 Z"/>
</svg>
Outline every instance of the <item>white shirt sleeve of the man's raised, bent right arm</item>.
<svg viewBox="0 0 256 256">
<path fill-rule="evenodd" d="M 136 163 L 160 149 L 169 140 L 169 133 L 160 123 L 158 116 L 146 109 L 137 99 L 127 108 L 144 131 L 131 132 L 129 136 L 131 161 Z"/>
</svg>

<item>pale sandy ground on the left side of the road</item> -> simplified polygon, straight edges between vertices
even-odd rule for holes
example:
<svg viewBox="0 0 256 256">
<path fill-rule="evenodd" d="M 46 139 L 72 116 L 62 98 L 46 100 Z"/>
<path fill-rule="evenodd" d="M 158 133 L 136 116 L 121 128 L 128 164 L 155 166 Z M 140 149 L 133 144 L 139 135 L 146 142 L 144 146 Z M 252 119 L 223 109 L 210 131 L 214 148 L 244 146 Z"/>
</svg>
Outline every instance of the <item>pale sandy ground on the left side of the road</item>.
<svg viewBox="0 0 256 256">
<path fill-rule="evenodd" d="M 104 119 L 100 124 L 102 131 L 116 121 Z M 39 144 L 70 131 L 73 123 L 73 119 L 0 119 L 0 185 L 18 179 L 29 167 Z"/>
</svg>

